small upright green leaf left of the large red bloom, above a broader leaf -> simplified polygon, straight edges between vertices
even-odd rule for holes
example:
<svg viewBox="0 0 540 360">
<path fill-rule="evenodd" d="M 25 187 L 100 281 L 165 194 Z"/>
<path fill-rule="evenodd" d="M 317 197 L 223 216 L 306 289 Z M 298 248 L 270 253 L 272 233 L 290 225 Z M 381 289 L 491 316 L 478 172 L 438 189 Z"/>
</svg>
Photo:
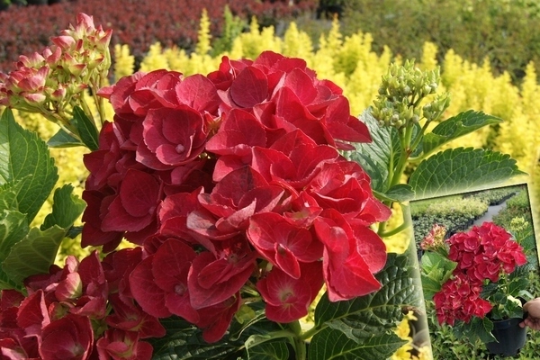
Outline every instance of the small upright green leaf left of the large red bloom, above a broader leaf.
<svg viewBox="0 0 540 360">
<path fill-rule="evenodd" d="M 73 186 L 65 184 L 56 189 L 53 196 L 52 212 L 47 215 L 41 229 L 49 229 L 54 225 L 68 229 L 85 210 L 86 203 L 73 194 Z"/>
</svg>

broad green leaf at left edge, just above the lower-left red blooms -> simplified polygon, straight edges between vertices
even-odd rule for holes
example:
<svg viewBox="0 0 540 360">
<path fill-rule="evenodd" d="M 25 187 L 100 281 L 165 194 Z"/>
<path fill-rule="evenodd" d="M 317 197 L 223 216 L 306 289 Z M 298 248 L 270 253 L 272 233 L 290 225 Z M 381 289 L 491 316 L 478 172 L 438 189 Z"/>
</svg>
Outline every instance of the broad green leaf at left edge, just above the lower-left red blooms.
<svg viewBox="0 0 540 360">
<path fill-rule="evenodd" d="M 49 273 L 49 266 L 53 264 L 65 235 L 66 230 L 58 226 L 44 231 L 32 228 L 25 238 L 12 247 L 2 269 L 15 283 L 22 282 L 30 275 Z"/>
</svg>

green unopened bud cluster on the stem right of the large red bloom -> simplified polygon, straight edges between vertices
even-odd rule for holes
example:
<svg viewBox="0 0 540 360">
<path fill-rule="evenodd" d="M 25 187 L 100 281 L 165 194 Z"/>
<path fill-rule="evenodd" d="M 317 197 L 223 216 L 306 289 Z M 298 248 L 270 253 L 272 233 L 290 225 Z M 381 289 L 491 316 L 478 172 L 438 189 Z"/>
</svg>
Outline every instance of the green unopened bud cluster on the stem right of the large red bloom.
<svg viewBox="0 0 540 360">
<path fill-rule="evenodd" d="M 396 129 L 418 123 L 421 119 L 434 121 L 440 118 L 450 103 L 448 94 L 437 94 L 441 80 L 439 68 L 422 71 L 414 66 L 414 61 L 406 61 L 404 66 L 392 64 L 383 76 L 377 99 L 374 100 L 372 114 L 380 126 Z M 430 103 L 423 100 L 435 95 Z M 425 103 L 421 106 L 422 103 Z"/>
</svg>

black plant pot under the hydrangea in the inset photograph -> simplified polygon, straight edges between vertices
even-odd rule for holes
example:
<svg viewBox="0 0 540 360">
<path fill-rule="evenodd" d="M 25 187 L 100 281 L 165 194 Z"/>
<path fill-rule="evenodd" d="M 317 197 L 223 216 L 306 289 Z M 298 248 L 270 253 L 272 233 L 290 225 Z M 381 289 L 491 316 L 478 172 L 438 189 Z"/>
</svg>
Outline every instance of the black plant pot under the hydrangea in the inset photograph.
<svg viewBox="0 0 540 360">
<path fill-rule="evenodd" d="M 520 328 L 518 318 L 509 320 L 493 320 L 493 336 L 499 342 L 487 343 L 486 347 L 492 355 L 517 356 L 521 347 L 525 346 L 527 328 Z"/>
</svg>

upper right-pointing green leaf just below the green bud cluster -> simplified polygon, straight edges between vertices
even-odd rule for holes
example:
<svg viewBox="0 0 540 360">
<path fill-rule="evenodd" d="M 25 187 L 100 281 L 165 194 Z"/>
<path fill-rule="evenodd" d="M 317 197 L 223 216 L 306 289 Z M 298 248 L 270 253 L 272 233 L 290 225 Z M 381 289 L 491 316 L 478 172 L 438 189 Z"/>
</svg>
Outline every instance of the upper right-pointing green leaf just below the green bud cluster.
<svg viewBox="0 0 540 360">
<path fill-rule="evenodd" d="M 422 139 L 422 149 L 425 153 L 429 153 L 448 141 L 500 121 L 502 119 L 498 117 L 473 110 L 458 113 L 454 117 L 440 122 L 431 132 L 426 134 Z"/>
</svg>

